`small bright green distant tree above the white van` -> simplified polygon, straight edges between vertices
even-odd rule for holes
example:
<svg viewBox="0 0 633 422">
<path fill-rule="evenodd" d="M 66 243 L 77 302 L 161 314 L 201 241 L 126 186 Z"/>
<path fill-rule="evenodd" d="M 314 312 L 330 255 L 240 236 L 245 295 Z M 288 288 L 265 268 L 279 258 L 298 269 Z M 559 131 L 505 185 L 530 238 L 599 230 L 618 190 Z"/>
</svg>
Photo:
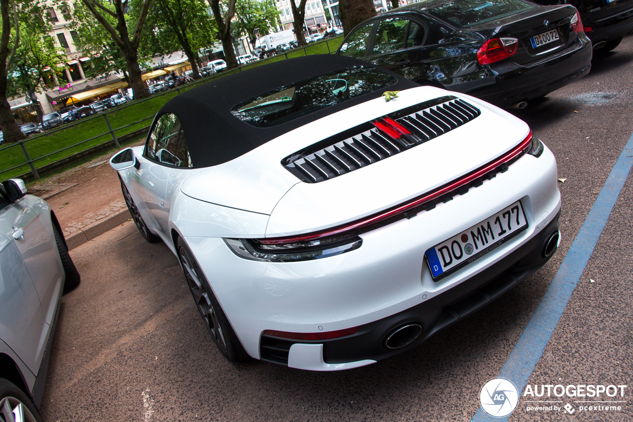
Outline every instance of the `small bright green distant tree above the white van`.
<svg viewBox="0 0 633 422">
<path fill-rule="evenodd" d="M 246 35 L 254 43 L 256 30 L 268 35 L 281 25 L 279 10 L 273 0 L 240 0 L 235 4 L 234 34 Z"/>
</svg>

